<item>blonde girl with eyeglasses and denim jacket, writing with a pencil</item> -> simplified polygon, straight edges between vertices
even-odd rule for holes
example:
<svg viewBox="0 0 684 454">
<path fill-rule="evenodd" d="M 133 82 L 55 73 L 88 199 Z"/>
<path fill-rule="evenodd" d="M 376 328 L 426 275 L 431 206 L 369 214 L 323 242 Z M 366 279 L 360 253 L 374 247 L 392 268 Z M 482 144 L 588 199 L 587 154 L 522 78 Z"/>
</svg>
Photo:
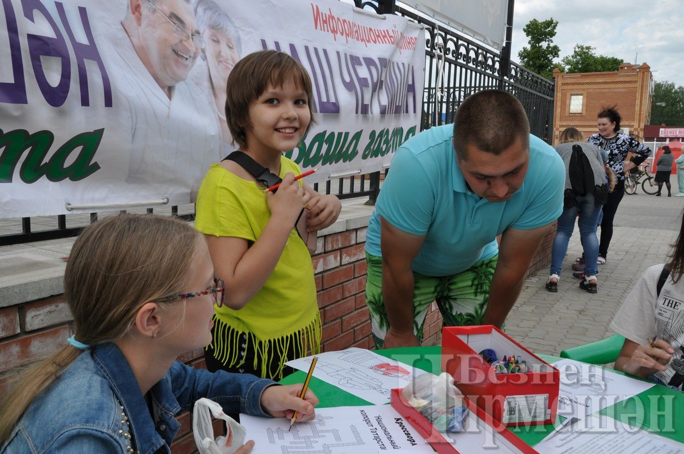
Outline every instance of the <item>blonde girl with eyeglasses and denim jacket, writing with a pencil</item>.
<svg viewBox="0 0 684 454">
<path fill-rule="evenodd" d="M 201 397 L 226 413 L 313 418 L 318 399 L 299 399 L 301 385 L 176 361 L 211 342 L 223 291 L 185 222 L 119 215 L 83 230 L 64 273 L 75 334 L 18 377 L 0 409 L 0 452 L 170 453 L 174 416 Z"/>
</svg>

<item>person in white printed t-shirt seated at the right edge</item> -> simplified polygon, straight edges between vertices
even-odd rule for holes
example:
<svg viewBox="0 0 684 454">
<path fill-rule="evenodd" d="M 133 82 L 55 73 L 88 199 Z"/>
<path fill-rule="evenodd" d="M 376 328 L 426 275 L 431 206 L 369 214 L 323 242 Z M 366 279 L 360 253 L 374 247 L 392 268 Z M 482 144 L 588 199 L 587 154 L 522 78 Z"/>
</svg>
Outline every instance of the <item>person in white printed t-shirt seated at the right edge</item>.
<svg viewBox="0 0 684 454">
<path fill-rule="evenodd" d="M 615 369 L 682 390 L 684 217 L 669 258 L 668 263 L 646 269 L 610 328 L 624 336 Z"/>
</svg>

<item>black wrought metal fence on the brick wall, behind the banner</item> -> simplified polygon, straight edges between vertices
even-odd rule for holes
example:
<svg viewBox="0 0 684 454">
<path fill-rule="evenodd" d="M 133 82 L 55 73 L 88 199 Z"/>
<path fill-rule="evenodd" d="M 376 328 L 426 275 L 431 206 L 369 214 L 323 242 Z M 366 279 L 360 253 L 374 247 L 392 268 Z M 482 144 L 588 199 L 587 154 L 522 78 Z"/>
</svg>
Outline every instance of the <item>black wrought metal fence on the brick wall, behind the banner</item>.
<svg viewBox="0 0 684 454">
<path fill-rule="evenodd" d="M 512 1 L 509 0 L 512 15 Z M 458 34 L 445 24 L 437 23 L 415 11 L 395 3 L 395 0 L 354 0 L 358 8 L 373 10 L 379 14 L 399 14 L 421 24 L 427 32 L 425 42 L 425 88 L 423 90 L 423 114 L 421 130 L 453 122 L 453 114 L 462 101 L 479 90 L 501 88 L 518 98 L 530 122 L 534 135 L 549 142 L 549 131 L 553 127 L 553 82 L 510 62 L 510 55 L 490 49 L 483 44 Z M 510 24 L 508 30 L 510 40 Z M 510 49 L 510 43 L 508 44 Z M 503 71 L 501 70 L 503 68 Z M 502 74 L 503 73 L 503 74 Z M 327 181 L 314 185 L 314 189 L 335 193 L 339 198 L 368 197 L 368 204 L 374 204 L 380 191 L 380 172 L 369 175 L 339 178 L 332 184 Z M 322 186 L 322 187 L 320 187 Z M 333 192 L 333 186 L 337 191 Z M 167 210 L 168 211 L 168 210 Z M 194 219 L 194 213 L 179 215 L 179 207 L 171 207 L 171 215 L 183 219 Z M 153 213 L 153 209 L 147 209 Z M 97 213 L 90 214 L 90 222 L 97 219 Z M 56 216 L 57 226 L 49 230 L 31 230 L 31 218 L 21 219 L 22 232 L 0 235 L 0 245 L 28 243 L 45 239 L 73 237 L 85 225 L 68 228 L 66 215 Z M 88 222 L 83 222 L 88 224 Z"/>
</svg>

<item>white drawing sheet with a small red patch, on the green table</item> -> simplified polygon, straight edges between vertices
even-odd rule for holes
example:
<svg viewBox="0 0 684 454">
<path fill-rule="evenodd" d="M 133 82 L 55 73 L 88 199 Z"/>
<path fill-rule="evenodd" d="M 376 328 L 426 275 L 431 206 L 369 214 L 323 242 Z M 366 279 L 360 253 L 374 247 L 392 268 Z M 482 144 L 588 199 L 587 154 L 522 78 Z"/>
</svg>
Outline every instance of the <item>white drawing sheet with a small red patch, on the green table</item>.
<svg viewBox="0 0 684 454">
<path fill-rule="evenodd" d="M 414 372 L 411 366 L 365 349 L 327 351 L 316 356 L 314 377 L 376 405 L 389 402 L 392 388 L 404 388 L 414 374 L 426 373 L 420 369 Z M 311 358 L 313 356 L 307 356 L 285 364 L 308 372 Z"/>
</svg>

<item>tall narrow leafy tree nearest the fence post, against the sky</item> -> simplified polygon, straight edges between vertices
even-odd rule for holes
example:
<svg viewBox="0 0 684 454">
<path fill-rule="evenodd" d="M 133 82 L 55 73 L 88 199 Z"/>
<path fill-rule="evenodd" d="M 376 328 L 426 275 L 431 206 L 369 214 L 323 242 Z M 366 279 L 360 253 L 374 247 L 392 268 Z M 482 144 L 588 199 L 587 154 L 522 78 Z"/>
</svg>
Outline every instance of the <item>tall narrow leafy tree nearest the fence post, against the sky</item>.
<svg viewBox="0 0 684 454">
<path fill-rule="evenodd" d="M 528 38 L 529 47 L 525 46 L 523 50 L 518 52 L 521 65 L 547 79 L 551 79 L 552 76 L 555 66 L 553 59 L 560 54 L 560 47 L 553 44 L 557 25 L 558 21 L 554 21 L 553 17 L 546 21 L 538 21 L 537 19 L 529 21 L 523 28 L 525 36 Z"/>
</svg>

